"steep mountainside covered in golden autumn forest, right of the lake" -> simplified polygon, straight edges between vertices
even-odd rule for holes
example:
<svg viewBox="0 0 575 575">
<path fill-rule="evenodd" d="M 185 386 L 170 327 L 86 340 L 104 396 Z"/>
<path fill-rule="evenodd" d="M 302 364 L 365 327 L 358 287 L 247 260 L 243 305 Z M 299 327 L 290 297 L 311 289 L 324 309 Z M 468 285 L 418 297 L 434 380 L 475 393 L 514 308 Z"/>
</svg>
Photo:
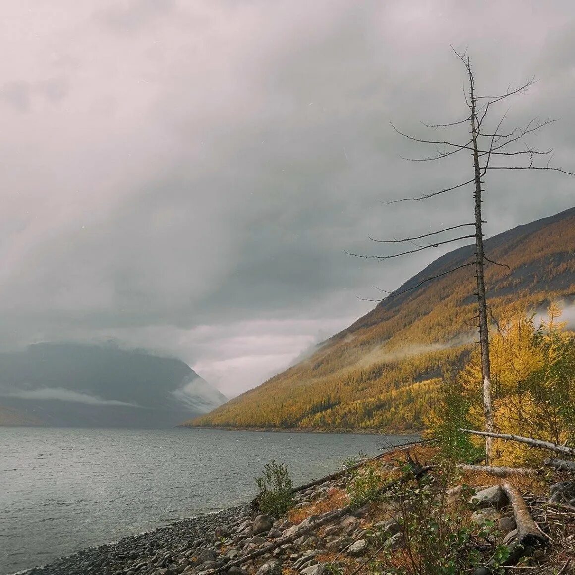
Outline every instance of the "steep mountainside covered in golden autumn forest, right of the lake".
<svg viewBox="0 0 575 575">
<path fill-rule="evenodd" d="M 486 267 L 494 315 L 575 294 L 575 208 L 491 237 L 485 249 L 510 268 Z M 420 428 L 440 378 L 463 365 L 476 338 L 473 267 L 421 282 L 473 257 L 465 246 L 436 259 L 306 361 L 188 424 Z"/>
</svg>

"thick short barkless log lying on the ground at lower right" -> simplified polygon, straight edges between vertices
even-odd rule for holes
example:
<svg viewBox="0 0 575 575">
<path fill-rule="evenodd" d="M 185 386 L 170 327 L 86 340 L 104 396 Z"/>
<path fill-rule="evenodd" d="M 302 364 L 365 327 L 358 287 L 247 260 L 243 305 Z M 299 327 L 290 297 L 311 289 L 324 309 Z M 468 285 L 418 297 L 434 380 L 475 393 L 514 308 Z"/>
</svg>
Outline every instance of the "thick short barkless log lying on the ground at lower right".
<svg viewBox="0 0 575 575">
<path fill-rule="evenodd" d="M 510 483 L 504 483 L 502 488 L 513 507 L 513 517 L 517 526 L 516 539 L 507 546 L 509 555 L 502 563 L 502 565 L 511 566 L 516 565 L 522 557 L 532 555 L 536 549 L 544 546 L 547 540 L 533 520 L 529 507 L 519 490 Z M 473 575 L 489 575 L 493 573 L 495 567 L 493 562 L 489 565 L 481 565 L 473 572 Z"/>
</svg>

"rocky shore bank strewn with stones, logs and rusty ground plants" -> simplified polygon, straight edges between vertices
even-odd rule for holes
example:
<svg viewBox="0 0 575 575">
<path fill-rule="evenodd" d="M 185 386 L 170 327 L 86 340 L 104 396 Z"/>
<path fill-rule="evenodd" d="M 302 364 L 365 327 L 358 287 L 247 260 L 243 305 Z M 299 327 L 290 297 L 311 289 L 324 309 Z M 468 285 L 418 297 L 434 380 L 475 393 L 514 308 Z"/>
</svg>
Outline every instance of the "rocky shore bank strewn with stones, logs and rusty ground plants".
<svg viewBox="0 0 575 575">
<path fill-rule="evenodd" d="M 403 565 L 406 549 L 420 552 L 413 547 L 418 540 L 430 546 L 425 553 L 433 554 L 443 545 L 441 549 L 451 553 L 457 565 L 465 566 L 450 572 L 485 575 L 498 565 L 513 569 L 523 558 L 541 568 L 533 573 L 551 575 L 566 573 L 562 566 L 575 564 L 572 462 L 546 460 L 557 470 L 553 472 L 461 465 L 454 476 L 457 483 L 449 484 L 441 479 L 440 467 L 422 466 L 409 453 L 404 462 L 398 460 L 398 452 L 404 449 L 300 486 L 294 490 L 291 510 L 280 519 L 259 512 L 254 501 L 19 573 L 329 575 L 335 570 L 355 574 L 368 563 L 376 570 L 378 565 L 393 565 L 396 559 Z M 427 461 L 433 455 L 432 448 L 423 445 L 413 451 Z M 409 463 L 407 470 L 405 463 Z M 374 478 L 373 497 L 358 499 L 358 490 L 365 490 Z M 422 478 L 425 481 L 420 482 Z M 382 498 L 385 493 L 388 496 Z M 430 513 L 435 513 L 435 519 L 431 530 L 425 531 Z M 443 526 L 442 540 L 433 528 L 436 522 Z M 463 541 L 455 552 L 454 534 Z M 470 553 L 476 554 L 473 563 L 466 559 Z M 525 566 L 522 563 L 517 569 Z"/>
</svg>

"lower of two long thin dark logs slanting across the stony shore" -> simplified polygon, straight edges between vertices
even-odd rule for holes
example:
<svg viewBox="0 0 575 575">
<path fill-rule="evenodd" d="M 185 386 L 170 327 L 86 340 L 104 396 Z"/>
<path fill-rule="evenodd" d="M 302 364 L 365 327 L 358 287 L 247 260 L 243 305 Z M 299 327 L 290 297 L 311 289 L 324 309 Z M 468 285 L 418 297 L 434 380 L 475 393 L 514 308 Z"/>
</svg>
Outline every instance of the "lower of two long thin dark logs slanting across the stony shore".
<svg viewBox="0 0 575 575">
<path fill-rule="evenodd" d="M 378 493 L 380 495 L 383 495 L 396 485 L 406 483 L 413 479 L 419 479 L 430 469 L 431 466 L 425 466 L 425 467 L 416 466 L 411 471 L 408 471 L 408 473 L 404 473 L 400 478 L 388 481 L 384 486 L 382 486 L 381 489 L 379 489 Z M 239 559 L 235 559 L 233 561 L 228 561 L 227 563 L 225 563 L 225 565 L 222 565 L 221 567 L 214 569 L 206 569 L 205 571 L 202 572 L 202 575 L 216 575 L 216 573 L 227 571 L 231 567 L 239 566 L 242 565 L 243 563 L 247 563 L 248 561 L 252 561 L 253 559 L 257 559 L 258 557 L 266 555 L 267 553 L 270 553 L 271 551 L 277 549 L 278 547 L 282 547 L 283 545 L 287 545 L 288 543 L 293 543 L 296 539 L 299 539 L 302 535 L 307 535 L 308 533 L 316 531 L 317 529 L 323 527 L 324 525 L 327 525 L 328 523 L 334 522 L 336 519 L 340 519 L 340 517 L 343 517 L 344 515 L 348 515 L 348 513 L 354 512 L 355 509 L 357 509 L 358 507 L 361 507 L 361 505 L 351 504 L 346 505 L 346 507 L 342 507 L 340 509 L 335 509 L 331 513 L 325 514 L 323 517 L 321 517 L 321 519 L 318 519 L 310 523 L 307 527 L 297 530 L 296 533 L 294 533 L 293 535 L 276 539 L 273 543 L 260 547 L 259 549 L 252 551 L 252 553 L 244 555 L 244 557 L 240 557 Z"/>
</svg>

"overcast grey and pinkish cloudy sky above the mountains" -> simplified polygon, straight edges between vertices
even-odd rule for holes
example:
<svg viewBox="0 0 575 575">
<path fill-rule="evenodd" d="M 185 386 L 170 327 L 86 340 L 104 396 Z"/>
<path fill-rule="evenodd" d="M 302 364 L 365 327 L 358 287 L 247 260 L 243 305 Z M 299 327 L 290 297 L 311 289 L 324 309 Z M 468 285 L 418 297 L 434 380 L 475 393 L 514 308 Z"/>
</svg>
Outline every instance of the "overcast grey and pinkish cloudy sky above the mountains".
<svg viewBox="0 0 575 575">
<path fill-rule="evenodd" d="M 572 0 L 18 0 L 0 21 L 0 347 L 117 338 L 228 396 L 258 385 L 444 252 L 367 236 L 469 220 L 469 156 L 398 128 L 536 76 L 508 125 L 575 162 Z M 507 104 L 496 110 L 493 122 Z M 467 127 L 450 132 L 461 139 Z M 431 151 L 432 152 L 432 151 Z M 472 176 L 471 176 L 472 177 Z M 486 233 L 569 208 L 575 179 L 493 172 Z"/>
</svg>

